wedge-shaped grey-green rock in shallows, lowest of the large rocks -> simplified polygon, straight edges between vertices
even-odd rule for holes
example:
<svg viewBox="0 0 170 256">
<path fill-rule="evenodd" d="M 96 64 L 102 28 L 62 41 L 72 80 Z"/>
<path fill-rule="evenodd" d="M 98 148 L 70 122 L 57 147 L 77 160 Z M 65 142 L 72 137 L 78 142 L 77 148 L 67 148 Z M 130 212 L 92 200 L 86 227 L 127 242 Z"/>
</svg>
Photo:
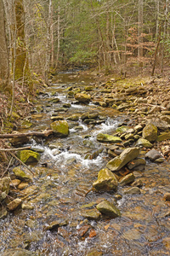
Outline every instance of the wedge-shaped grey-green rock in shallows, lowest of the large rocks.
<svg viewBox="0 0 170 256">
<path fill-rule="evenodd" d="M 96 206 L 96 208 L 99 210 L 99 212 L 110 217 L 121 217 L 121 212 L 119 211 L 119 209 L 114 206 L 114 204 L 112 204 L 110 201 L 102 201 Z"/>
</svg>

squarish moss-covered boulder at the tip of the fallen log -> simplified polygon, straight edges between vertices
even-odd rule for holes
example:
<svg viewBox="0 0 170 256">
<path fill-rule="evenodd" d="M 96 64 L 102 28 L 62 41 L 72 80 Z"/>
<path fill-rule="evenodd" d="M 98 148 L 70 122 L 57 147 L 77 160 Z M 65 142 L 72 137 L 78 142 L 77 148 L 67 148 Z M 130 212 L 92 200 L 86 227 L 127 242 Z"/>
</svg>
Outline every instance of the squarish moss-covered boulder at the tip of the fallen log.
<svg viewBox="0 0 170 256">
<path fill-rule="evenodd" d="M 69 125 L 65 120 L 54 121 L 51 129 L 57 137 L 67 137 L 69 135 Z"/>
</svg>

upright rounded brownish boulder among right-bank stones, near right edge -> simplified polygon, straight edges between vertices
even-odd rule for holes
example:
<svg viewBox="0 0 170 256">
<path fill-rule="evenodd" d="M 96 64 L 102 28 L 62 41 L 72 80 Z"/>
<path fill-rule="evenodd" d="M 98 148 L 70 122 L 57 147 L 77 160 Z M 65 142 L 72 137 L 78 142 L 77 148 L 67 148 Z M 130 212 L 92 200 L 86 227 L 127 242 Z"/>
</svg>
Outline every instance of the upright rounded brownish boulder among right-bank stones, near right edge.
<svg viewBox="0 0 170 256">
<path fill-rule="evenodd" d="M 157 127 L 156 125 L 146 125 L 142 132 L 142 137 L 148 140 L 150 143 L 155 142 L 157 139 Z"/>
</svg>

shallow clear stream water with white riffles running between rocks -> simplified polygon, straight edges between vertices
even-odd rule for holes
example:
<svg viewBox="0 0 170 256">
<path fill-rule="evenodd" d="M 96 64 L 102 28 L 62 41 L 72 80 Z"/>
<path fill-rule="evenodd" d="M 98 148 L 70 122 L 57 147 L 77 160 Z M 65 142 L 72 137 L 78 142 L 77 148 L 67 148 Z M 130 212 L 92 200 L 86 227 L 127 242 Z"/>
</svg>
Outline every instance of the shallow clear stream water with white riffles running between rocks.
<svg viewBox="0 0 170 256">
<path fill-rule="evenodd" d="M 35 172 L 33 182 L 26 189 L 14 190 L 13 196 L 24 197 L 33 209 L 17 209 L 0 221 L 0 255 L 10 248 L 51 256 L 169 255 L 170 213 L 168 203 L 163 201 L 163 194 L 170 189 L 166 161 L 161 165 L 147 163 L 143 172 L 134 172 L 144 183 L 140 195 L 123 195 L 122 188 L 116 193 L 90 190 L 99 170 L 110 160 L 105 144 L 97 142 L 96 136 L 99 132 L 113 133 L 125 118 L 113 108 L 77 104 L 74 98 L 67 97 L 70 86 L 83 90 L 90 83 L 94 83 L 93 78 L 82 81 L 77 74 L 60 74 L 37 99 L 31 115 L 33 131 L 49 127 L 54 114 L 66 119 L 73 113 L 98 111 L 100 121 L 86 125 L 81 119 L 68 120 L 69 137 L 31 139 L 31 147 L 42 151 L 41 160 L 31 166 Z M 95 97 L 98 88 L 94 86 L 93 91 Z M 56 98 L 59 102 L 51 102 Z M 70 108 L 65 104 L 71 104 Z M 122 195 L 117 201 L 121 218 L 82 217 L 104 199 L 115 202 L 116 194 Z M 57 228 L 48 230 L 54 222 Z"/>
</svg>

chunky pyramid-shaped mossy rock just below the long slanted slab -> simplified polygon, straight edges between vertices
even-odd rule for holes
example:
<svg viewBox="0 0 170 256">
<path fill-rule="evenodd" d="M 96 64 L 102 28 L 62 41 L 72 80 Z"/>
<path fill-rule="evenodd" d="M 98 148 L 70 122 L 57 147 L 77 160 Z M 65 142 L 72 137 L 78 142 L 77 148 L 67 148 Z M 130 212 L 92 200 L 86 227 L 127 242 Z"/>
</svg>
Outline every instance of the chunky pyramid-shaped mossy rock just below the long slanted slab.
<svg viewBox="0 0 170 256">
<path fill-rule="evenodd" d="M 94 189 L 100 191 L 110 191 L 117 189 L 117 179 L 115 175 L 107 168 L 102 169 L 98 173 L 98 179 L 93 183 Z"/>
</svg>

